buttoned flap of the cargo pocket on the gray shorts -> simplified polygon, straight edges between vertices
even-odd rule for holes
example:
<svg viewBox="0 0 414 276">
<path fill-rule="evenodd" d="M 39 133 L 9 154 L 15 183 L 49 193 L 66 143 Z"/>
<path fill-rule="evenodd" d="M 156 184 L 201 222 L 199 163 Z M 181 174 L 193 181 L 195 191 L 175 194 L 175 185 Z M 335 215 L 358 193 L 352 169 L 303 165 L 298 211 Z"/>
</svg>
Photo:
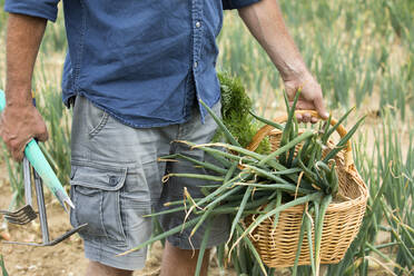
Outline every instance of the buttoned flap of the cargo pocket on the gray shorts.
<svg viewBox="0 0 414 276">
<path fill-rule="evenodd" d="M 122 188 L 126 177 L 126 167 L 72 162 L 70 185 L 101 190 L 118 190 Z"/>
</svg>

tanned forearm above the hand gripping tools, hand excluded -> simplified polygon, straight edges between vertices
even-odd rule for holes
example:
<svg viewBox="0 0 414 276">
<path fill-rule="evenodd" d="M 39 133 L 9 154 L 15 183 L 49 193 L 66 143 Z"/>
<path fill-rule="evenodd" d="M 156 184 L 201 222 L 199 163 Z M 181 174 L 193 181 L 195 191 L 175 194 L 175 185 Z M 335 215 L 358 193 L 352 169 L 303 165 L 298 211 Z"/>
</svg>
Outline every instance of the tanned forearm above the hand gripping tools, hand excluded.
<svg viewBox="0 0 414 276">
<path fill-rule="evenodd" d="M 46 19 L 9 14 L 7 28 L 6 97 L 9 107 L 31 103 L 31 79 Z"/>
</svg>

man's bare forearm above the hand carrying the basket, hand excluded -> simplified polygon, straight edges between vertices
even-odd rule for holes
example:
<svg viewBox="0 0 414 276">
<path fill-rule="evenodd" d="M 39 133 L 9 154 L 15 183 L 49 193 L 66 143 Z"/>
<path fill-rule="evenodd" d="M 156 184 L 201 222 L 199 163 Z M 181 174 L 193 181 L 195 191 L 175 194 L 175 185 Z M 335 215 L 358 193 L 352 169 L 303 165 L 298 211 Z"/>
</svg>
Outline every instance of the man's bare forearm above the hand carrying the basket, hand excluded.
<svg viewBox="0 0 414 276">
<path fill-rule="evenodd" d="M 262 0 L 240 9 L 239 14 L 284 80 L 306 70 L 305 62 L 285 26 L 277 0 Z"/>
</svg>

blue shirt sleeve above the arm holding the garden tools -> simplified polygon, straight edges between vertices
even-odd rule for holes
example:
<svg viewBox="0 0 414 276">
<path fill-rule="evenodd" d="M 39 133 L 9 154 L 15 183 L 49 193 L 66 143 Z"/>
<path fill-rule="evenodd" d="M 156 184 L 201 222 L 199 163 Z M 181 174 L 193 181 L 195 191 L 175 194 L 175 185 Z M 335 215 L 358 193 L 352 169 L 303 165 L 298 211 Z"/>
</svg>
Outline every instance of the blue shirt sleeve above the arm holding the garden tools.
<svg viewBox="0 0 414 276">
<path fill-rule="evenodd" d="M 59 0 L 6 0 L 4 11 L 56 21 Z"/>
</svg>

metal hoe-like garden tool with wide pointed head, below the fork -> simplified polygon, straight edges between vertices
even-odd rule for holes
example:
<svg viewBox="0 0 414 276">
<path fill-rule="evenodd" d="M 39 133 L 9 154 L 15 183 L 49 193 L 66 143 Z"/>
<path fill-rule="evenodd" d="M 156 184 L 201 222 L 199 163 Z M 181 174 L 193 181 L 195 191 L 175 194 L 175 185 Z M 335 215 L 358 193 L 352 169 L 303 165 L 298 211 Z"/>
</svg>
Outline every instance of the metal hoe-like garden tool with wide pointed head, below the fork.
<svg viewBox="0 0 414 276">
<path fill-rule="evenodd" d="M 14 244 L 14 245 L 29 245 L 29 246 L 53 246 L 62 240 L 69 238 L 75 233 L 78 233 L 81 228 L 83 228 L 87 224 L 80 225 L 76 228 L 72 228 L 71 230 L 65 233 L 60 237 L 50 240 L 49 235 L 49 226 L 48 226 L 48 217 L 46 214 L 46 206 L 45 206 L 45 195 L 43 195 L 43 185 L 40 176 L 33 171 L 33 179 L 34 179 L 34 190 L 36 190 L 36 197 L 38 201 L 38 208 L 39 208 L 39 219 L 40 219 L 40 228 L 42 234 L 42 243 L 21 243 L 21 241 L 3 241 L 6 244 Z M 30 175 L 30 168 L 29 168 L 29 189 L 31 189 L 31 175 Z"/>
</svg>

